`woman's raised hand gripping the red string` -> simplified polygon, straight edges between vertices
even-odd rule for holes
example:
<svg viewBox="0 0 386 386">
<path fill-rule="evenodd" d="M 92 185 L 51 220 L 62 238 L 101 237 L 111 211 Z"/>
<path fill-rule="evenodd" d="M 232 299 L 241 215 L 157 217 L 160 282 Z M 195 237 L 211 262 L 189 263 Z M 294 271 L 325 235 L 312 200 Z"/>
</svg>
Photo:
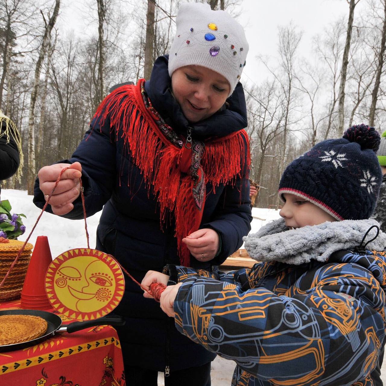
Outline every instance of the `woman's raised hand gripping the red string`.
<svg viewBox="0 0 386 386">
<path fill-rule="evenodd" d="M 69 169 L 61 175 L 58 186 L 56 186 L 54 194 L 49 200 L 52 212 L 56 215 L 65 215 L 73 210 L 74 205 L 72 203 L 80 194 L 79 179 L 82 176 L 82 166 L 79 162 L 74 162 L 73 164 L 54 164 L 44 166 L 37 173 L 40 190 L 47 201 L 60 172 L 64 168 Z"/>
</svg>

